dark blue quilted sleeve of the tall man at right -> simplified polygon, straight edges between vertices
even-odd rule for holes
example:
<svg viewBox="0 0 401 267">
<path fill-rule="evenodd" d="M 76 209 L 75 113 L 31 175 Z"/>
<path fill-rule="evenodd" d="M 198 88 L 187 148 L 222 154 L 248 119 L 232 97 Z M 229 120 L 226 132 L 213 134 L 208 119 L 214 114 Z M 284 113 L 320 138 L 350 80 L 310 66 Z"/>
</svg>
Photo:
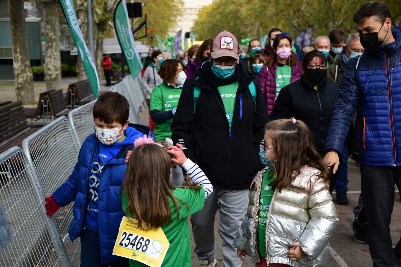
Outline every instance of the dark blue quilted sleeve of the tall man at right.
<svg viewBox="0 0 401 267">
<path fill-rule="evenodd" d="M 342 152 L 342 146 L 358 108 L 360 90 L 355 69 L 357 60 L 358 58 L 349 60 L 342 75 L 338 99 L 334 106 L 330 128 L 324 144 L 324 153 L 329 151 Z"/>
</svg>

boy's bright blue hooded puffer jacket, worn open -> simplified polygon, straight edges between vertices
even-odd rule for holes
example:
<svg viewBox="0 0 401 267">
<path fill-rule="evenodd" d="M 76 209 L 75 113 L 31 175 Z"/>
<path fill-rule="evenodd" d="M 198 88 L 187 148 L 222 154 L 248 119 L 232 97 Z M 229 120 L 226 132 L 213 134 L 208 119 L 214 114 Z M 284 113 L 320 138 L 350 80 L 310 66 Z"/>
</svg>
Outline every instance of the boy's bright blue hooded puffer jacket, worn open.
<svg viewBox="0 0 401 267">
<path fill-rule="evenodd" d="M 101 262 L 107 263 L 118 257 L 112 255 L 115 239 L 117 238 L 119 225 L 124 216 L 121 207 L 120 189 L 124 183 L 124 175 L 127 169 L 125 158 L 127 152 L 134 148 L 134 141 L 138 137 L 154 135 L 148 126 L 129 124 L 124 131 L 126 139 L 121 142 L 124 147 L 115 157 L 107 161 L 101 173 L 99 185 L 99 238 Z M 65 206 L 74 201 L 74 219 L 69 228 L 69 237 L 74 241 L 81 235 L 85 227 L 85 214 L 88 199 L 89 174 L 93 162 L 98 155 L 99 140 L 95 134 L 89 135 L 79 151 L 78 162 L 70 177 L 53 193 L 53 199 L 60 206 Z"/>
</svg>

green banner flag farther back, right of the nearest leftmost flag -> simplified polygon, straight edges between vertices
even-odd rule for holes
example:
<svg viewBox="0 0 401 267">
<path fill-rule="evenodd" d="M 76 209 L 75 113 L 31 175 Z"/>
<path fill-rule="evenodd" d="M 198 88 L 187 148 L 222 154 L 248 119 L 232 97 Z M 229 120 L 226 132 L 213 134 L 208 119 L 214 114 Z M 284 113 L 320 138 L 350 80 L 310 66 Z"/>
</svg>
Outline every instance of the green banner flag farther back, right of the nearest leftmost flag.
<svg viewBox="0 0 401 267">
<path fill-rule="evenodd" d="M 132 78 L 142 70 L 141 58 L 132 35 L 126 0 L 120 0 L 114 10 L 114 28 Z"/>
</svg>

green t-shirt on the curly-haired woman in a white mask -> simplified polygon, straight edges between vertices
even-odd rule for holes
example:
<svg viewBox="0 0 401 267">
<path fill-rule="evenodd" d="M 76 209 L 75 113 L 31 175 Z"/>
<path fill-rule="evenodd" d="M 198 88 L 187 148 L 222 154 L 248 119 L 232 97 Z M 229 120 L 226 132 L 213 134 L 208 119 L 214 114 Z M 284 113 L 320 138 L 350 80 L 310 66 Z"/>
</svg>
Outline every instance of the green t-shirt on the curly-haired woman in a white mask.
<svg viewBox="0 0 401 267">
<path fill-rule="evenodd" d="M 156 86 L 150 95 L 150 110 L 168 111 L 177 107 L 182 87 L 174 88 L 162 82 Z M 156 140 L 164 141 L 171 138 L 170 125 L 173 120 L 156 122 L 154 135 Z"/>
</svg>

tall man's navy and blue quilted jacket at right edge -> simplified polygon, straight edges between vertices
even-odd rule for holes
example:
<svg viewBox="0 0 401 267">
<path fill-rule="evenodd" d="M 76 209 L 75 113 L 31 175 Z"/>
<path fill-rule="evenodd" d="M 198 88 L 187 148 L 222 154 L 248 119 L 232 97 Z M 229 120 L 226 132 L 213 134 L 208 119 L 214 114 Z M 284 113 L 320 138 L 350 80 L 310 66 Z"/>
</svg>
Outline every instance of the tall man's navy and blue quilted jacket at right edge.
<svg viewBox="0 0 401 267">
<path fill-rule="evenodd" d="M 368 166 L 401 166 L 401 32 L 377 52 L 365 50 L 346 64 L 324 152 L 341 153 L 356 118 L 359 162 Z"/>
</svg>

